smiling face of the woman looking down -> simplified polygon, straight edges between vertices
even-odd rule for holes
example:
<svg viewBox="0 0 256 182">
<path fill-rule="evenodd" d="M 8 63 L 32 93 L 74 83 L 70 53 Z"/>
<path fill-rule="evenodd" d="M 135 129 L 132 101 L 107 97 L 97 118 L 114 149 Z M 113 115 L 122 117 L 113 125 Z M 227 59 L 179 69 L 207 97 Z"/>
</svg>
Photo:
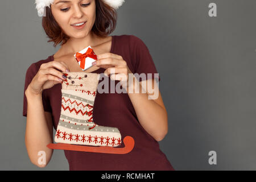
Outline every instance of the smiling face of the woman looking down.
<svg viewBox="0 0 256 182">
<path fill-rule="evenodd" d="M 55 0 L 51 10 L 56 22 L 71 38 L 87 36 L 96 19 L 95 0 Z"/>
</svg>

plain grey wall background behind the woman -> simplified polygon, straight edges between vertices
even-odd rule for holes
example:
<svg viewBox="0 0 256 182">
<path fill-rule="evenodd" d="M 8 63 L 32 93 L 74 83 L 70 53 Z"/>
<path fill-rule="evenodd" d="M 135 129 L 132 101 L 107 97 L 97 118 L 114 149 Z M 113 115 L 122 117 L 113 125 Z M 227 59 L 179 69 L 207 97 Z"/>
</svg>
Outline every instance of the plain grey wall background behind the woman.
<svg viewBox="0 0 256 182">
<path fill-rule="evenodd" d="M 112 35 L 141 38 L 161 77 L 169 130 L 159 143 L 176 170 L 256 169 L 255 10 L 255 0 L 126 0 L 118 10 Z M 47 43 L 34 1 L 0 1 L 0 21 L 0 169 L 68 170 L 59 150 L 34 166 L 24 144 L 27 68 L 59 47 Z"/>
</svg>

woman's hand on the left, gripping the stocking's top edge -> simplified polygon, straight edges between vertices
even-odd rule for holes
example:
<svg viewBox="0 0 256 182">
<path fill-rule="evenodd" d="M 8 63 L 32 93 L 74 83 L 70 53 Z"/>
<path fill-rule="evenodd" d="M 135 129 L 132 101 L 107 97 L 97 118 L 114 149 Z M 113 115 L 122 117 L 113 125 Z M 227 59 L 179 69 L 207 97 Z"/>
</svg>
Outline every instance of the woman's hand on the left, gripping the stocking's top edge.
<svg viewBox="0 0 256 182">
<path fill-rule="evenodd" d="M 67 64 L 63 61 L 50 61 L 40 66 L 38 73 L 32 79 L 28 88 L 33 94 L 42 94 L 44 89 L 52 88 L 56 84 L 60 84 L 66 78 L 63 77 L 63 73 L 57 71 L 57 69 L 63 72 L 69 72 Z"/>
</svg>

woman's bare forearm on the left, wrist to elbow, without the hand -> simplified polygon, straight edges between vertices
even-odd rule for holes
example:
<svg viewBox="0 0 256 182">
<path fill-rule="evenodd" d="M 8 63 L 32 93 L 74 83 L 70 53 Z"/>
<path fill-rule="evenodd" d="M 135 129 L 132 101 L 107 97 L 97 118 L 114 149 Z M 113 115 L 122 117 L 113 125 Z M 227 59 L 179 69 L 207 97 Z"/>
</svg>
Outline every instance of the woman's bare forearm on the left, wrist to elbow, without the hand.
<svg viewBox="0 0 256 182">
<path fill-rule="evenodd" d="M 38 167 L 46 167 L 51 159 L 53 150 L 47 147 L 52 143 L 52 118 L 51 113 L 45 112 L 42 102 L 42 94 L 34 94 L 28 86 L 27 97 L 27 125 L 25 143 L 28 156 L 33 164 Z M 39 151 L 46 152 L 46 164 L 39 164 Z"/>
</svg>

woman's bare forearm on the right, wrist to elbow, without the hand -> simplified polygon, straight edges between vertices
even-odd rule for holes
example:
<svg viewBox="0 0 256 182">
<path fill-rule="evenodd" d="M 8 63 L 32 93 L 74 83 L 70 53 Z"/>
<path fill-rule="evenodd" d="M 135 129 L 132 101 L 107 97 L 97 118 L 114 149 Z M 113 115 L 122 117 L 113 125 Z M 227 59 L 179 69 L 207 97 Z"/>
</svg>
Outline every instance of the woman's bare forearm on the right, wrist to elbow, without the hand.
<svg viewBox="0 0 256 182">
<path fill-rule="evenodd" d="M 139 82 L 134 78 L 134 84 L 128 86 L 127 90 L 131 87 L 131 93 L 127 92 L 131 103 L 136 111 L 139 122 L 142 127 L 150 134 L 155 140 L 162 140 L 168 133 L 168 116 L 166 108 L 164 107 L 162 96 L 159 92 L 158 85 L 154 80 L 145 80 Z M 148 90 L 146 82 L 152 82 L 152 89 Z M 144 86 L 145 85 L 145 86 Z M 145 90 L 145 92 L 135 92 L 135 90 Z M 159 93 L 159 96 L 154 100 L 149 100 L 148 96 L 152 96 L 155 93 Z M 153 98 L 153 97 L 152 97 Z"/>
</svg>

